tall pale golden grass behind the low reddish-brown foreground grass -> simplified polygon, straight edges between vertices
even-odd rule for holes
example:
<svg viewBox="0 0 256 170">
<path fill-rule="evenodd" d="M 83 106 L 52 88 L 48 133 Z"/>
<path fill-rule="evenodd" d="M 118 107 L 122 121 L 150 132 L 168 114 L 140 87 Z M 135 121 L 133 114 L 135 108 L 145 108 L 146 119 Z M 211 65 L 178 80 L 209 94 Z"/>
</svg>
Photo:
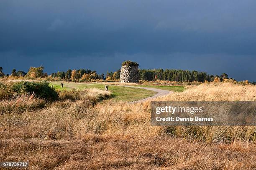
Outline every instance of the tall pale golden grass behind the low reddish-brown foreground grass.
<svg viewBox="0 0 256 170">
<path fill-rule="evenodd" d="M 42 110 L 19 113 L 1 117 L 5 122 L 26 122 L 24 126 L 36 128 L 40 125 L 46 134 L 49 130 L 55 133 L 71 133 L 77 138 L 87 134 L 126 135 L 136 137 L 152 137 L 171 135 L 187 140 L 197 139 L 212 142 L 233 142 L 237 140 L 255 142 L 255 127 L 157 127 L 151 126 L 150 101 L 138 104 L 113 102 L 112 100 L 97 103 L 108 98 L 109 92 L 91 89 L 87 91 L 60 92 L 61 101 L 54 102 Z M 189 87 L 184 92 L 176 92 L 156 100 L 255 100 L 256 89 L 253 85 L 245 87 L 233 84 L 207 84 Z M 11 103 L 11 102 L 10 102 Z M 36 103 L 36 102 L 35 102 Z M 97 105 L 96 105 L 97 103 Z M 3 105 L 3 104 L 2 104 Z M 0 107 L 1 108 L 1 107 Z M 29 117 L 32 117 L 30 121 Z M 9 121 L 7 121 L 9 120 Z M 36 137 L 38 138 L 38 136 Z M 40 136 L 43 138 L 43 136 Z M 58 139 L 61 139 L 61 135 Z"/>
</svg>

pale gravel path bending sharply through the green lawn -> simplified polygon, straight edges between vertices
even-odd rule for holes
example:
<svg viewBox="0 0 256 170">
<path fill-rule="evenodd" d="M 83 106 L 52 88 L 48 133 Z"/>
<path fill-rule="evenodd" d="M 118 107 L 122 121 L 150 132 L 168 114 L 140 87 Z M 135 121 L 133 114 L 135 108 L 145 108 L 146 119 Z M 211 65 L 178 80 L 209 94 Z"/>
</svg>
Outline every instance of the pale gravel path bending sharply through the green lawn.
<svg viewBox="0 0 256 170">
<path fill-rule="evenodd" d="M 164 96 L 164 95 L 168 95 L 168 94 L 173 93 L 172 91 L 169 91 L 169 90 L 162 90 L 162 89 L 151 88 L 151 87 L 136 87 L 136 86 L 130 86 L 130 85 L 122 85 L 122 86 L 124 86 L 124 87 L 133 87 L 133 88 L 141 88 L 141 89 L 152 90 L 152 91 L 157 92 L 154 96 L 147 97 L 145 99 L 141 99 L 141 100 L 137 100 L 137 101 L 133 101 L 133 102 L 130 102 L 130 103 L 145 102 L 149 99 L 154 99 L 156 97 L 160 97 L 160 96 Z"/>
</svg>

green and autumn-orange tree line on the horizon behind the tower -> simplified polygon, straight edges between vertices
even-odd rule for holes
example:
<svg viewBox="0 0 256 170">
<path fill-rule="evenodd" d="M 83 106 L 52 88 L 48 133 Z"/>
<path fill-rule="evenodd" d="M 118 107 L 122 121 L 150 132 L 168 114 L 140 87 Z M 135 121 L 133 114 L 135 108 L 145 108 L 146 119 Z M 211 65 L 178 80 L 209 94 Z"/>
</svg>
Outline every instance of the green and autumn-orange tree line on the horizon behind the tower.
<svg viewBox="0 0 256 170">
<path fill-rule="evenodd" d="M 60 80 L 119 80 L 120 79 L 120 69 L 115 72 L 107 72 L 106 76 L 104 73 L 98 75 L 95 70 L 89 69 L 77 69 L 77 70 L 67 70 L 67 71 L 58 71 L 47 75 L 44 72 L 44 67 L 30 67 L 28 72 L 22 70 L 13 69 L 11 75 L 5 75 L 3 72 L 3 67 L 0 67 L 0 77 L 5 76 L 18 76 L 26 78 L 44 78 L 51 77 L 57 78 Z M 223 73 L 222 75 L 208 75 L 206 72 L 200 72 L 196 70 L 175 70 L 175 69 L 139 69 L 140 80 L 146 81 L 156 81 L 156 80 L 165 80 L 165 81 L 176 81 L 176 82 L 212 82 L 212 81 L 223 81 L 226 79 L 234 80 L 229 78 L 227 74 Z M 256 82 L 252 82 L 256 84 Z"/>
</svg>

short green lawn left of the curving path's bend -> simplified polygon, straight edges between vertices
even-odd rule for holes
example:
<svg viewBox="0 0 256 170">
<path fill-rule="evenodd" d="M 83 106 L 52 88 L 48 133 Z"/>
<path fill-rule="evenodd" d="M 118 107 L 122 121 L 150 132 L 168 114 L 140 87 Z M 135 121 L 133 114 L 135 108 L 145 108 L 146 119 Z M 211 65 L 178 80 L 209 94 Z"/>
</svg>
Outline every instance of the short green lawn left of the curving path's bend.
<svg viewBox="0 0 256 170">
<path fill-rule="evenodd" d="M 75 88 L 77 90 L 83 90 L 86 88 L 98 88 L 104 90 L 104 84 L 86 84 L 86 83 L 76 83 L 76 82 L 63 82 L 63 88 L 61 88 L 61 82 L 50 82 L 50 85 L 54 85 L 56 90 L 71 90 Z M 113 98 L 115 100 L 123 101 L 136 101 L 150 97 L 156 94 L 156 92 L 151 90 L 133 88 L 133 87 L 123 87 L 118 85 L 108 85 L 108 90 L 112 92 Z"/>
</svg>

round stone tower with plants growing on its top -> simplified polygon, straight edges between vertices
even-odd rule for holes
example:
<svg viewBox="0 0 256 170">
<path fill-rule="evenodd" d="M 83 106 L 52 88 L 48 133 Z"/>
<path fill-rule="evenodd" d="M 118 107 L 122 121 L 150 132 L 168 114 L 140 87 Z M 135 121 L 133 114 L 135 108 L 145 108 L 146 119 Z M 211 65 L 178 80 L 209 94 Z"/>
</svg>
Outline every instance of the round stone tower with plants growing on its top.
<svg viewBox="0 0 256 170">
<path fill-rule="evenodd" d="M 122 63 L 120 82 L 139 82 L 138 63 L 132 61 Z"/>
</svg>

